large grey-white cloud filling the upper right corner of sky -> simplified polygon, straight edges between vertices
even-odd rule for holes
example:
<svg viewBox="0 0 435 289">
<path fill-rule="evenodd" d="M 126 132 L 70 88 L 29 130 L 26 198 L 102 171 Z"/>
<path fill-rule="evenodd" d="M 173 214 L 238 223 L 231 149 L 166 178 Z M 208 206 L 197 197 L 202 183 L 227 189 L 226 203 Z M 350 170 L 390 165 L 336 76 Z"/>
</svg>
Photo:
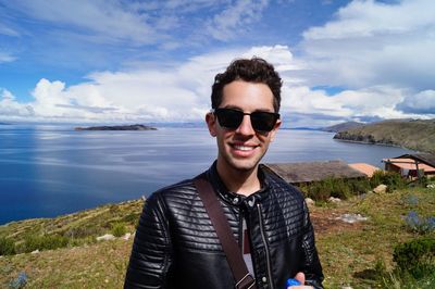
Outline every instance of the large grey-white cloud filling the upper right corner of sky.
<svg viewBox="0 0 435 289">
<path fill-rule="evenodd" d="M 433 88 L 434 1 L 352 1 L 303 37 L 300 48 L 309 67 L 303 76 L 310 84 Z"/>
</svg>

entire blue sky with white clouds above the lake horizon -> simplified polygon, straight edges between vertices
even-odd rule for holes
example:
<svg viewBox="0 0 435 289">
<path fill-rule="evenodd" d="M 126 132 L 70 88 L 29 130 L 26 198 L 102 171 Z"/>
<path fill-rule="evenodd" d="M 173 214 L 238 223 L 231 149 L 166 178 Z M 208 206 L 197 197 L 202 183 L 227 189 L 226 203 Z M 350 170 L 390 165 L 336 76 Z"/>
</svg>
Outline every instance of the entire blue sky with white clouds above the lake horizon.
<svg viewBox="0 0 435 289">
<path fill-rule="evenodd" d="M 0 122 L 201 122 L 260 56 L 283 123 L 435 118 L 433 0 L 0 0 Z"/>
</svg>

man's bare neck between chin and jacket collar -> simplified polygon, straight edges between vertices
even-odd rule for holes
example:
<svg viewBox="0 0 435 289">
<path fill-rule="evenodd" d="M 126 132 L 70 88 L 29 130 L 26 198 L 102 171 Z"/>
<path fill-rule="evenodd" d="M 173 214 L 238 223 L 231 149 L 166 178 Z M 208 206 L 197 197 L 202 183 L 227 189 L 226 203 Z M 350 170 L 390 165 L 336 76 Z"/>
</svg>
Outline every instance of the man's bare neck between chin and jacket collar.
<svg viewBox="0 0 435 289">
<path fill-rule="evenodd" d="M 217 174 L 229 191 L 249 196 L 260 190 L 261 184 L 258 178 L 258 165 L 249 171 L 238 171 L 223 167 L 217 161 Z"/>
</svg>

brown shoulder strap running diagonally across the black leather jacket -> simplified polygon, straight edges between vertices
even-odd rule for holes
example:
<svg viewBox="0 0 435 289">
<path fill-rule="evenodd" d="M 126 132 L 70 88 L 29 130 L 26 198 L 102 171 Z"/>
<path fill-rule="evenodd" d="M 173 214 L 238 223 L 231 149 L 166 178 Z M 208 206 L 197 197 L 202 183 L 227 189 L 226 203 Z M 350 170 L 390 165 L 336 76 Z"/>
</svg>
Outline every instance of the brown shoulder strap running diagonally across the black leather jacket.
<svg viewBox="0 0 435 289">
<path fill-rule="evenodd" d="M 224 214 L 224 210 L 222 209 L 212 186 L 208 180 L 199 177 L 195 178 L 194 183 L 221 241 L 222 249 L 225 252 L 226 260 L 228 261 L 234 279 L 236 280 L 235 288 L 256 288 L 256 280 L 246 267 L 240 249 L 229 227 L 228 219 Z"/>
</svg>

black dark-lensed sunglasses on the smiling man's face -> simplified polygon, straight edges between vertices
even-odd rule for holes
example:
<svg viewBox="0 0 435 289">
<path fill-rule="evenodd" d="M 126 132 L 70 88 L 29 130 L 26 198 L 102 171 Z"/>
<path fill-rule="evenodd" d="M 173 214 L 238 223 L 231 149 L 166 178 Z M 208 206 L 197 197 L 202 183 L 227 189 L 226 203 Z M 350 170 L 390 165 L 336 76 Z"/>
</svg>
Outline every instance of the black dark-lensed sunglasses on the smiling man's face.
<svg viewBox="0 0 435 289">
<path fill-rule="evenodd" d="M 237 129 L 244 121 L 244 116 L 249 115 L 254 130 L 271 131 L 279 118 L 279 114 L 274 112 L 246 113 L 234 109 L 215 109 L 212 112 L 217 116 L 219 124 L 227 129 Z"/>
</svg>

